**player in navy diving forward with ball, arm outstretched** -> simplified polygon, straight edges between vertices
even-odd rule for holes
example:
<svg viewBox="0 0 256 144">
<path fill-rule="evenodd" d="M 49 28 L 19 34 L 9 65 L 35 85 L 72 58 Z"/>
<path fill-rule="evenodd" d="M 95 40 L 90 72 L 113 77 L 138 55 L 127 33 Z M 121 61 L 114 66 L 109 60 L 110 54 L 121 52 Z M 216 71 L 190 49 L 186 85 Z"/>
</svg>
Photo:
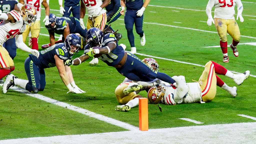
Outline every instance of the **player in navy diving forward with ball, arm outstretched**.
<svg viewBox="0 0 256 144">
<path fill-rule="evenodd" d="M 152 81 L 158 78 L 171 84 L 175 83 L 168 75 L 155 71 L 133 54 L 124 52 L 123 47 L 118 45 L 113 33 L 103 36 L 103 32 L 99 28 L 93 27 L 87 31 L 86 40 L 90 49 L 85 50 L 84 55 L 79 58 L 66 61 L 65 65 L 80 65 L 87 59 L 94 58 L 94 55 L 100 54 L 101 56 L 98 55 L 99 59 L 108 66 L 116 68 L 121 75 L 130 80 Z"/>
</svg>

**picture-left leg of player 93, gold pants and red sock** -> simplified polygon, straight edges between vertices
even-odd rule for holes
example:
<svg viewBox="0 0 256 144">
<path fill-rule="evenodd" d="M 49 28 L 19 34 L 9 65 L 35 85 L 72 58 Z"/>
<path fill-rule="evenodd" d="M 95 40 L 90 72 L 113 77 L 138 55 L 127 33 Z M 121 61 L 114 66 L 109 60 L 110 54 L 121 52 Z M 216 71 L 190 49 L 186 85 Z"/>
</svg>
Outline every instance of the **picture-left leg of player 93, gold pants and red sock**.
<svg viewBox="0 0 256 144">
<path fill-rule="evenodd" d="M 215 27 L 220 37 L 220 48 L 223 54 L 223 63 L 228 63 L 228 43 L 226 19 L 215 18 Z"/>
</svg>

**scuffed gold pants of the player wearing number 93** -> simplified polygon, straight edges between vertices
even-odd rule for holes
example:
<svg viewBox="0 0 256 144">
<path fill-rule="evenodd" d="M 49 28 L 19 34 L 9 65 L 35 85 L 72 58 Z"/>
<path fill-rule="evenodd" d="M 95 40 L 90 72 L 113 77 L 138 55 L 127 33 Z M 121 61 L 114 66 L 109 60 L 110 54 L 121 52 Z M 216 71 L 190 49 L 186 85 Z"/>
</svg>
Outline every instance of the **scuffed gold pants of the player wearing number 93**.
<svg viewBox="0 0 256 144">
<path fill-rule="evenodd" d="M 227 32 L 234 39 L 234 41 L 240 41 L 240 30 L 236 20 L 215 18 L 214 22 L 221 42 L 227 42 Z"/>
</svg>

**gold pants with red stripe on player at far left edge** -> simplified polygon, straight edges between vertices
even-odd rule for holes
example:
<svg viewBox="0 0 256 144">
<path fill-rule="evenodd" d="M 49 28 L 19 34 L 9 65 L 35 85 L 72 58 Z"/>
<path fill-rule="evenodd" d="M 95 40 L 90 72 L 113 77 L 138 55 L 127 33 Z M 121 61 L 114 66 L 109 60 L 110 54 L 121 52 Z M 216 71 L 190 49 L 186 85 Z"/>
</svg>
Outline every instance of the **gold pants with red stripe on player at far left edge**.
<svg viewBox="0 0 256 144">
<path fill-rule="evenodd" d="M 14 66 L 13 59 L 10 57 L 7 50 L 0 45 L 0 69 Z"/>
</svg>

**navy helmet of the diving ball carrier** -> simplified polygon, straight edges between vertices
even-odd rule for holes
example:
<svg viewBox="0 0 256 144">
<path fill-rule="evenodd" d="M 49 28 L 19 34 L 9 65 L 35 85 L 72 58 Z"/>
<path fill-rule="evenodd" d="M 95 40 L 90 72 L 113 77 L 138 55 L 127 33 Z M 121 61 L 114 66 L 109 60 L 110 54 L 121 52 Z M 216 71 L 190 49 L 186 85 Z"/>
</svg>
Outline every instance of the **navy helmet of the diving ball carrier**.
<svg viewBox="0 0 256 144">
<path fill-rule="evenodd" d="M 101 46 L 103 33 L 99 28 L 92 27 L 86 32 L 86 41 L 89 47 Z"/>
</svg>

